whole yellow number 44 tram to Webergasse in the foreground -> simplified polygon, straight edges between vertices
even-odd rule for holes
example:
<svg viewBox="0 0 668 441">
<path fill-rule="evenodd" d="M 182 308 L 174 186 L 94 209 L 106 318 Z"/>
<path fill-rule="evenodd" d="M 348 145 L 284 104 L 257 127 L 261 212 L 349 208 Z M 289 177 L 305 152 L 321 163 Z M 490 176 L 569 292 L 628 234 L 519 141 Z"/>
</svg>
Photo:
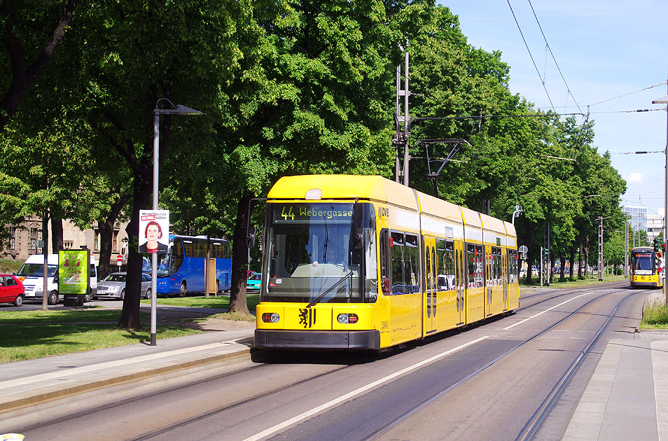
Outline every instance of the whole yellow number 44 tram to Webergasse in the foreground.
<svg viewBox="0 0 668 441">
<path fill-rule="evenodd" d="M 279 179 L 255 346 L 384 349 L 520 305 L 515 227 L 380 176 Z"/>
</svg>

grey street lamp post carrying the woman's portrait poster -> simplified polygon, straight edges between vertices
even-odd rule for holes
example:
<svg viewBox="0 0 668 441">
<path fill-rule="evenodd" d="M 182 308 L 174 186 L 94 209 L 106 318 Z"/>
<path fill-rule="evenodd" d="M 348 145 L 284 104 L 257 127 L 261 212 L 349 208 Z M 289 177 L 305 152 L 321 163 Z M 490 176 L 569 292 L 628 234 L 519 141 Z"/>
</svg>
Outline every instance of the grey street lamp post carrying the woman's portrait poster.
<svg viewBox="0 0 668 441">
<path fill-rule="evenodd" d="M 168 102 L 173 109 L 158 109 L 161 101 Z M 172 104 L 167 98 L 160 98 L 153 109 L 153 211 L 158 210 L 158 160 L 160 158 L 160 115 L 206 115 L 190 107 L 181 104 Z M 155 346 L 155 320 L 156 297 L 158 297 L 158 253 L 151 254 L 151 346 Z"/>
</svg>

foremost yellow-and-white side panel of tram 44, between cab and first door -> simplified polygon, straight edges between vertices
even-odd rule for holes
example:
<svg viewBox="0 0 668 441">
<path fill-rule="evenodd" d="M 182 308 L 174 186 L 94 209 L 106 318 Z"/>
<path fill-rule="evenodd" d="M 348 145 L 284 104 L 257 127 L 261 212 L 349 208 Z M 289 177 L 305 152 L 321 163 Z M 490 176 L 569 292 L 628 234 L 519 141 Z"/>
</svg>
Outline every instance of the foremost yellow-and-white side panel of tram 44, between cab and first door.
<svg viewBox="0 0 668 441">
<path fill-rule="evenodd" d="M 401 184 L 392 181 L 388 181 L 388 183 L 391 184 L 391 191 L 394 193 L 392 200 L 397 204 L 374 203 L 377 213 L 387 214 L 387 216 L 378 216 L 377 218 L 376 230 L 378 234 L 383 228 L 388 228 L 389 230 L 419 235 L 419 214 L 415 193 L 410 188 L 401 186 Z M 398 187 L 394 188 L 395 185 L 392 184 Z M 409 190 L 410 193 L 401 191 L 401 187 Z M 379 207 L 387 210 L 379 210 Z M 378 250 L 378 255 L 380 256 L 380 250 Z M 378 277 L 380 280 L 380 265 Z M 417 283 L 420 283 L 420 275 L 415 274 L 415 277 Z M 376 301 L 378 314 L 375 325 L 377 326 L 376 329 L 381 330 L 381 347 L 393 346 L 421 337 L 421 295 L 420 292 L 402 295 L 382 295 L 382 293 L 379 293 Z M 382 328 L 386 326 L 389 328 L 389 332 L 383 332 Z"/>
</svg>

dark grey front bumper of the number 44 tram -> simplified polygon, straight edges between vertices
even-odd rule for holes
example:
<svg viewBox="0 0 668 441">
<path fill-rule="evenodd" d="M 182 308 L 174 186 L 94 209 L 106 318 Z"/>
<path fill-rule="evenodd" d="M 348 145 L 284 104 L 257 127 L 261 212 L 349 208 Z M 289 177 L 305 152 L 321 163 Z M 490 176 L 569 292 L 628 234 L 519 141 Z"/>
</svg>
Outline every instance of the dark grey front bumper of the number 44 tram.
<svg viewBox="0 0 668 441">
<path fill-rule="evenodd" d="M 261 349 L 380 349 L 380 332 L 255 330 L 256 348 Z"/>
</svg>

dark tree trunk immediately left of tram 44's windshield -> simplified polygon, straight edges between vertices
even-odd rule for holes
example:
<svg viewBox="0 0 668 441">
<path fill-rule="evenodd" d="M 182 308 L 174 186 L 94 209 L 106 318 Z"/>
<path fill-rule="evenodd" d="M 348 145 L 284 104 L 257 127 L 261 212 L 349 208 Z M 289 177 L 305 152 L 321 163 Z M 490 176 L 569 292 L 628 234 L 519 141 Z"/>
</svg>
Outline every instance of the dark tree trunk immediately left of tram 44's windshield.
<svg viewBox="0 0 668 441">
<path fill-rule="evenodd" d="M 249 221 L 249 193 L 239 198 L 237 204 L 237 222 L 232 239 L 232 287 L 230 288 L 230 312 L 249 314 L 246 304 L 246 274 L 248 274 L 248 244 L 246 228 Z"/>
</svg>

